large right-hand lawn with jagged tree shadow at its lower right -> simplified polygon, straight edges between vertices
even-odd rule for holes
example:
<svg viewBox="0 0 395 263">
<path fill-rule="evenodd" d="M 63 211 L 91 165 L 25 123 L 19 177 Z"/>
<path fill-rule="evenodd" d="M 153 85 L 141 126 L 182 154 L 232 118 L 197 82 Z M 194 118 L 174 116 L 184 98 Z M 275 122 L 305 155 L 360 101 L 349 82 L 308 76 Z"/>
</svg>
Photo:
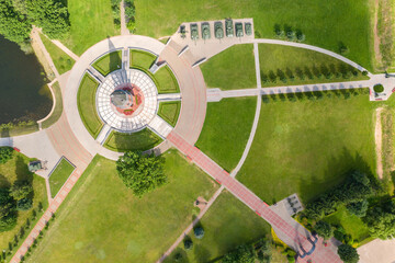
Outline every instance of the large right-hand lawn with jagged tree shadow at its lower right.
<svg viewBox="0 0 395 263">
<path fill-rule="evenodd" d="M 368 95 L 263 103 L 237 179 L 269 204 L 293 193 L 307 203 L 350 169 L 374 172 L 375 106 Z"/>
</svg>

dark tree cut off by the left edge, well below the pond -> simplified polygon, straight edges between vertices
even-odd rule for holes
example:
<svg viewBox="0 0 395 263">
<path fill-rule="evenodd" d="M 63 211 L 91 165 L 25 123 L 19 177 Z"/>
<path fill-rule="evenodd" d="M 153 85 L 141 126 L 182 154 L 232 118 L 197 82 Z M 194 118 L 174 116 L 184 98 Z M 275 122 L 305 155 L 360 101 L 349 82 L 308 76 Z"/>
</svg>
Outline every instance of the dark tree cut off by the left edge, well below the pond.
<svg viewBox="0 0 395 263">
<path fill-rule="evenodd" d="M 8 188 L 0 188 L 0 232 L 9 231 L 16 225 L 15 202 Z"/>
</svg>

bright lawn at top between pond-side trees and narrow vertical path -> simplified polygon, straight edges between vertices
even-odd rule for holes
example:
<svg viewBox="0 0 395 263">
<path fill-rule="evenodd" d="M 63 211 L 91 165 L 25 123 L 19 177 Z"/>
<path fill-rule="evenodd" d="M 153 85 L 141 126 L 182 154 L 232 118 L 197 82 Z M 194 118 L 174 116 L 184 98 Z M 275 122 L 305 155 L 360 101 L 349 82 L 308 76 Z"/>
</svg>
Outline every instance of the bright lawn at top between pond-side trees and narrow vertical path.
<svg viewBox="0 0 395 263">
<path fill-rule="evenodd" d="M 71 28 L 64 44 L 77 55 L 109 36 L 120 34 L 114 25 L 110 0 L 68 0 L 67 7 Z"/>
</svg>

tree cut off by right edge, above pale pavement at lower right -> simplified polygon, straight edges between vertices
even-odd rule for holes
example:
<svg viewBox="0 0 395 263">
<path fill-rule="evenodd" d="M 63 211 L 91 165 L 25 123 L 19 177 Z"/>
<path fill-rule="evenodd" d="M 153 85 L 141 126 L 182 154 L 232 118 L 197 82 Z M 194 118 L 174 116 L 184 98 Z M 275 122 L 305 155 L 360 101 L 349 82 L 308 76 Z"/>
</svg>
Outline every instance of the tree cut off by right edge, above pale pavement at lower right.
<svg viewBox="0 0 395 263">
<path fill-rule="evenodd" d="M 376 204 L 363 218 L 372 237 L 391 239 L 395 236 L 395 198 Z"/>
</svg>

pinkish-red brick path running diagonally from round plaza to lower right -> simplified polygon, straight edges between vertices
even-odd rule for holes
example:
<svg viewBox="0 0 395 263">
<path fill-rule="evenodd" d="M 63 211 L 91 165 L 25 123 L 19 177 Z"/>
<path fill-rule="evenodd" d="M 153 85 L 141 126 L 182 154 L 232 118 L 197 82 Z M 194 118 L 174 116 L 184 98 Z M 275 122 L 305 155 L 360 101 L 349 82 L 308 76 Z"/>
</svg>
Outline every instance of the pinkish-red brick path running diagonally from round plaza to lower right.
<svg viewBox="0 0 395 263">
<path fill-rule="evenodd" d="M 201 150 L 188 144 L 176 132 L 170 133 L 167 139 L 183 152 L 188 159 L 192 160 L 215 181 L 224 185 L 238 199 L 255 210 L 257 215 L 267 220 L 274 229 L 281 231 L 282 235 L 285 235 L 287 237 L 285 242 L 300 254 L 306 254 L 315 247 L 315 250 L 311 255 L 298 259 L 297 262 L 307 262 L 307 260 L 319 263 L 341 262 L 336 253 L 336 245 L 330 243 L 328 247 L 324 247 L 321 239 L 313 245 L 309 239 L 314 240 L 314 238 L 305 228 L 301 226 L 301 228 L 295 229 L 287 224 L 281 216 L 271 210 L 268 204 L 261 201 L 236 179 L 232 178 L 228 172 L 222 169 Z"/>
</svg>

